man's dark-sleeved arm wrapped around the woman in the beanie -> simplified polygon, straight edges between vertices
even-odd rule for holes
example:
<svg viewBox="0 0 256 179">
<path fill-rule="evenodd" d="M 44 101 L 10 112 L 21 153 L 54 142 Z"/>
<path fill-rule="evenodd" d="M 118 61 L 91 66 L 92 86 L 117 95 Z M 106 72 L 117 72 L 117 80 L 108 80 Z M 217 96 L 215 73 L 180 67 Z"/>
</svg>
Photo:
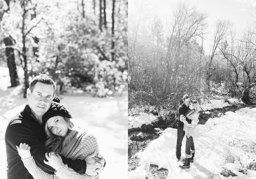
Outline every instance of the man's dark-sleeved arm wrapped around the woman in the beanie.
<svg viewBox="0 0 256 179">
<path fill-rule="evenodd" d="M 34 132 L 27 128 L 21 123 L 12 124 L 8 127 L 7 137 L 9 147 L 18 155 L 16 145 L 19 146 L 20 143 L 27 143 L 31 146 L 31 154 L 39 168 L 44 172 L 49 174 L 54 174 L 55 169 L 48 166 L 43 162 L 45 158 L 46 149 L 44 143 L 40 142 L 39 139 L 34 135 Z M 70 168 L 73 168 L 76 172 L 84 174 L 86 172 L 86 162 L 82 160 L 68 159 L 62 157 L 63 162 L 67 164 Z"/>
</svg>

